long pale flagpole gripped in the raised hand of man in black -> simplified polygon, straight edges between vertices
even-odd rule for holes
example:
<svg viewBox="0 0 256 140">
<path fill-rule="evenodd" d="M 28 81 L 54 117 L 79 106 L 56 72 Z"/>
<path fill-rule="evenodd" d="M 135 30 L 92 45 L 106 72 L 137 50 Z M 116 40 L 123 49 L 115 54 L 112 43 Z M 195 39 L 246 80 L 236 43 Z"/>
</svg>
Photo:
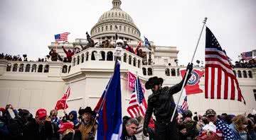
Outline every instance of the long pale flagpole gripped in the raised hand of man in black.
<svg viewBox="0 0 256 140">
<path fill-rule="evenodd" d="M 207 17 L 204 18 L 204 20 L 203 20 L 203 28 L 204 28 L 205 25 L 206 25 L 206 21 L 207 21 Z M 202 28 L 201 33 L 200 33 L 200 35 L 199 35 L 198 42 L 196 43 L 196 48 L 195 48 L 195 51 L 193 52 L 193 57 L 192 57 L 192 59 L 191 59 L 190 64 L 193 62 L 193 58 L 195 57 L 196 49 L 198 48 L 198 44 L 199 44 L 201 35 L 202 35 L 202 33 L 203 33 L 203 28 Z M 179 101 L 181 100 L 181 95 L 182 95 L 182 92 L 183 92 L 183 89 L 184 89 L 184 86 L 185 86 L 187 77 L 188 77 L 188 72 L 186 72 L 185 80 L 183 81 L 183 84 L 182 84 L 181 94 L 179 95 L 178 103 L 179 103 Z M 175 115 L 175 113 L 176 113 L 176 110 L 177 110 L 177 107 L 178 107 L 178 103 L 176 103 L 176 106 L 175 106 L 175 109 L 174 109 L 174 113 L 173 113 L 173 115 L 171 116 L 171 122 L 173 122 L 173 120 L 174 120 L 174 115 Z"/>
</svg>

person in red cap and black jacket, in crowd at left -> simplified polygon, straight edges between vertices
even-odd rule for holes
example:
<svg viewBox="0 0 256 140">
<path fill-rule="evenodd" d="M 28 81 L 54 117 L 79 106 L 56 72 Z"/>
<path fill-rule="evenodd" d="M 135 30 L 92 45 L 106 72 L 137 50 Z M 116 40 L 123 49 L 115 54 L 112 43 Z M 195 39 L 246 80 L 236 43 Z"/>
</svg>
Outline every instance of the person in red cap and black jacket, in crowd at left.
<svg viewBox="0 0 256 140">
<path fill-rule="evenodd" d="M 50 117 L 47 117 L 45 109 L 41 108 L 36 111 L 36 117 L 28 122 L 23 129 L 23 139 L 26 140 L 46 140 L 53 139 L 53 124 L 50 122 Z"/>
</svg>

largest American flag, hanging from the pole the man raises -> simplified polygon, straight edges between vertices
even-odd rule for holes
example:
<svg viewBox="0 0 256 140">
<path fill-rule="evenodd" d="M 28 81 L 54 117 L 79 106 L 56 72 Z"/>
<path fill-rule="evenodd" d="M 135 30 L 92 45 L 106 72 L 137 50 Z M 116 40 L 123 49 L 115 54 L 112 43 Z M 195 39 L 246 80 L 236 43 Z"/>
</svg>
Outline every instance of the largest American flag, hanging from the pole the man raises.
<svg viewBox="0 0 256 140">
<path fill-rule="evenodd" d="M 210 99 L 243 100 L 245 103 L 228 58 L 207 27 L 205 96 Z"/>
</svg>

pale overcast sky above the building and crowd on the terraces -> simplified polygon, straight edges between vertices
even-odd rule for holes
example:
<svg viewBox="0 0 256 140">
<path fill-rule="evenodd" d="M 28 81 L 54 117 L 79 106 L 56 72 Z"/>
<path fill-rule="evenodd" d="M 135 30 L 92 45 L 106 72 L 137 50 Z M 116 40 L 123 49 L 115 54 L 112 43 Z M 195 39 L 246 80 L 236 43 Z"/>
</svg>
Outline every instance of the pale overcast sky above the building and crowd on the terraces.
<svg viewBox="0 0 256 140">
<path fill-rule="evenodd" d="M 0 52 L 45 57 L 54 35 L 71 33 L 69 42 L 84 37 L 112 0 L 0 0 Z M 176 46 L 179 64 L 191 61 L 204 17 L 233 61 L 256 49 L 255 0 L 122 0 L 143 35 L 155 45 Z M 204 60 L 205 31 L 196 52 Z M 195 61 L 196 62 L 196 61 Z"/>
</svg>

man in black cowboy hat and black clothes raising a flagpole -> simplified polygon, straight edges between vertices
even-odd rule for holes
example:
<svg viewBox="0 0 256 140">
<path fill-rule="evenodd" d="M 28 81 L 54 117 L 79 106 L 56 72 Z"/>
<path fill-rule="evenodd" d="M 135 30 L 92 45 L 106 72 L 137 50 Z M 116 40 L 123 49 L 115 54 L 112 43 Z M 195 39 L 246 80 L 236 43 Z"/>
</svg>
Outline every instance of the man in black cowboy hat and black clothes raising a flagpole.
<svg viewBox="0 0 256 140">
<path fill-rule="evenodd" d="M 188 77 L 186 83 L 191 77 L 192 69 L 193 64 L 188 64 Z M 184 80 L 185 78 L 175 86 L 166 86 L 164 88 L 161 87 L 164 82 L 163 78 L 154 76 L 149 78 L 149 81 L 146 82 L 145 87 L 147 90 L 151 89 L 152 94 L 149 95 L 148 107 L 144 119 L 143 133 L 145 136 L 147 136 L 149 120 L 154 112 L 154 116 L 156 117 L 154 139 L 178 139 L 178 122 L 175 119 L 178 116 L 177 112 L 174 115 L 173 122 L 171 122 L 171 116 L 173 115 L 176 106 L 172 95 L 181 91 Z"/>
</svg>

